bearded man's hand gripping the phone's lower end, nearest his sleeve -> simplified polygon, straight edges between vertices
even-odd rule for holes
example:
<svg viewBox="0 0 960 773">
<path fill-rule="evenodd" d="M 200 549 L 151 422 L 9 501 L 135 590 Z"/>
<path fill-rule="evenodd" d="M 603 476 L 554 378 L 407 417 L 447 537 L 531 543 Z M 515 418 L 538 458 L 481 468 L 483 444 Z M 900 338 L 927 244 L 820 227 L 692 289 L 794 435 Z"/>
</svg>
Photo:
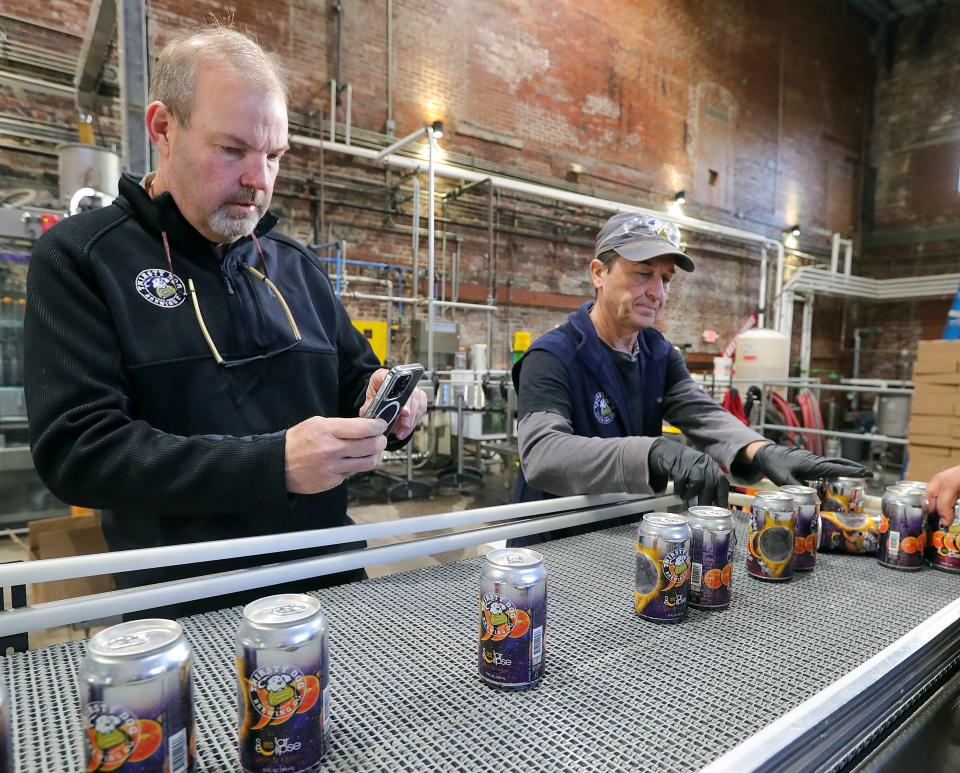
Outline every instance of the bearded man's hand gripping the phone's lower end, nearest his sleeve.
<svg viewBox="0 0 960 773">
<path fill-rule="evenodd" d="M 386 428 L 382 419 L 325 416 L 313 416 L 291 427 L 284 448 L 287 491 L 329 491 L 354 473 L 372 470 L 387 446 Z"/>
</svg>

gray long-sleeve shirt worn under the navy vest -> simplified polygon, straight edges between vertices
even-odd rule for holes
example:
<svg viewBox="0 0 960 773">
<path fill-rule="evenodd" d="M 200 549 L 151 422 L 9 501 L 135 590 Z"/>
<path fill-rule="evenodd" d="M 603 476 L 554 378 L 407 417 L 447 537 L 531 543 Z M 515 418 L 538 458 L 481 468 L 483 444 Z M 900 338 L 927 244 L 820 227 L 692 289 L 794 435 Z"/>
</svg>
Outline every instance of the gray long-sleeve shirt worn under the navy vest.
<svg viewBox="0 0 960 773">
<path fill-rule="evenodd" d="M 629 357 L 610 351 L 613 356 Z M 738 464 L 736 457 L 745 446 L 764 437 L 711 400 L 690 378 L 678 352 L 672 350 L 669 356 L 674 358 L 671 367 L 682 369 L 684 377 L 663 395 L 667 421 L 732 474 L 746 480 L 759 478 L 758 471 Z M 566 372 L 556 357 L 545 351 L 531 352 L 528 357 L 537 358 L 536 367 L 521 369 L 521 394 L 566 394 L 572 399 Z M 557 496 L 653 493 L 647 457 L 660 438 L 576 435 L 570 411 L 556 404 L 556 398 L 554 405 L 543 409 L 538 409 L 535 401 L 532 410 L 523 412 L 523 407 L 518 426 L 520 459 L 531 486 Z"/>
</svg>

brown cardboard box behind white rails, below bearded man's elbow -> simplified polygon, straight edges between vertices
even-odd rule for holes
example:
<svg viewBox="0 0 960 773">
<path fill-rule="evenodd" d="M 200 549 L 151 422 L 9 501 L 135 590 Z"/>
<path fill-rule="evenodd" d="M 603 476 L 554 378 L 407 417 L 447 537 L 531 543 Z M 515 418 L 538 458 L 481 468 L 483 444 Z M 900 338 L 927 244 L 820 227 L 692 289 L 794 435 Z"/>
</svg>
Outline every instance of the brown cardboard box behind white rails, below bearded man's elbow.
<svg viewBox="0 0 960 773">
<path fill-rule="evenodd" d="M 106 553 L 108 550 L 99 515 L 44 518 L 31 521 L 27 526 L 30 529 L 30 557 L 34 560 Z M 106 593 L 113 588 L 113 575 L 110 574 L 41 582 L 31 587 L 31 603 Z"/>
</svg>

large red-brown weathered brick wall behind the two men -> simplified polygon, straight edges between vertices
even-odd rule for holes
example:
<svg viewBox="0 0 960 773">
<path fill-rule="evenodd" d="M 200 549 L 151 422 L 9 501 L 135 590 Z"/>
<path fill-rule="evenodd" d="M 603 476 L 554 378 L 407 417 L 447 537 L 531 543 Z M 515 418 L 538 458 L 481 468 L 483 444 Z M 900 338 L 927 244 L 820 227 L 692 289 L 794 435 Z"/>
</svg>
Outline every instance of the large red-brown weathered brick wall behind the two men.
<svg viewBox="0 0 960 773">
<path fill-rule="evenodd" d="M 223 16 L 227 8 L 185 0 L 154 0 L 149 7 L 154 53 L 181 25 Z M 286 62 L 292 111 L 309 122 L 328 110 L 334 3 L 238 0 L 229 8 L 238 26 Z M 386 3 L 344 0 L 343 8 L 340 66 L 353 85 L 353 122 L 381 132 Z M 49 34 L 59 34 L 64 48 L 77 44 L 86 12 L 86 3 L 63 0 L 52 6 L 21 0 L 17 9 L 21 19 L 59 30 Z M 850 232 L 875 60 L 869 25 L 844 4 L 398 0 L 393 16 L 397 134 L 443 118 L 447 150 L 507 170 L 664 209 L 684 189 L 690 214 L 775 237 L 795 222 L 805 233 Z M 69 94 L 2 81 L 0 112 L 61 127 L 75 118 Z M 104 142 L 119 135 L 115 104 L 105 103 L 99 118 Z M 571 172 L 574 163 L 579 174 Z M 313 238 L 319 169 L 316 152 L 295 149 L 275 198 L 283 227 L 304 240 Z M 29 181 L 55 191 L 55 174 L 51 156 L 0 147 L 4 188 Z M 409 225 L 410 203 L 392 203 L 383 172 L 327 154 L 324 175 L 320 238 L 346 239 L 351 258 L 409 265 L 410 236 L 402 227 Z M 450 185 L 441 182 L 439 190 Z M 402 199 L 409 191 L 407 181 L 395 193 Z M 592 294 L 586 264 L 603 216 L 522 198 L 501 199 L 497 212 L 496 291 L 505 307 L 496 315 L 492 359 L 502 365 L 514 329 L 544 332 Z M 445 220 L 448 256 L 455 236 L 462 240 L 462 295 L 483 300 L 485 192 L 458 199 Z M 679 278 L 662 326 L 677 343 L 709 357 L 753 310 L 757 254 L 688 236 L 698 270 Z M 425 265 L 425 239 L 421 260 Z M 351 308 L 377 314 L 376 303 Z M 486 315 L 462 321 L 465 341 L 484 340 Z M 836 337 L 838 325 L 826 340 Z M 707 328 L 720 333 L 718 344 L 702 342 Z"/>
</svg>

